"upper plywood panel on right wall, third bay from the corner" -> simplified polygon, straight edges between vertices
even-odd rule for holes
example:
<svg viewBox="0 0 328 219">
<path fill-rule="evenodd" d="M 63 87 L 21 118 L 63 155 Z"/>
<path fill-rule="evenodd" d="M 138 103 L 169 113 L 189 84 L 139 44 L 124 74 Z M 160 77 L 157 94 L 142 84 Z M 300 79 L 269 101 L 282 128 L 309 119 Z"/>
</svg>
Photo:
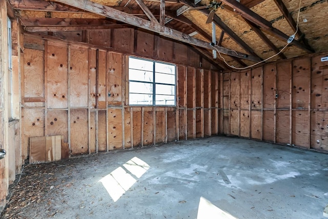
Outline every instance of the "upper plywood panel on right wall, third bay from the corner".
<svg viewBox="0 0 328 219">
<path fill-rule="evenodd" d="M 251 71 L 240 72 L 240 109 L 250 107 Z"/>
</svg>

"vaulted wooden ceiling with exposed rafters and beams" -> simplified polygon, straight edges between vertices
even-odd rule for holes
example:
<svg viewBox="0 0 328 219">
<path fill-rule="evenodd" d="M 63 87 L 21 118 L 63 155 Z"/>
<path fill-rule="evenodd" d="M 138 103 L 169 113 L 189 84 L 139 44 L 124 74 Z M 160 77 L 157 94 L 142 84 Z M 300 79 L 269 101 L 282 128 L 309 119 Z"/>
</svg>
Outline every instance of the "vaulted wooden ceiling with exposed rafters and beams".
<svg viewBox="0 0 328 219">
<path fill-rule="evenodd" d="M 208 24 L 213 7 L 200 6 L 213 0 L 8 1 L 27 32 L 134 26 L 190 44 L 222 69 L 231 69 L 222 57 L 247 67 L 271 56 L 265 62 L 328 51 L 328 0 L 221 0 Z"/>
</svg>

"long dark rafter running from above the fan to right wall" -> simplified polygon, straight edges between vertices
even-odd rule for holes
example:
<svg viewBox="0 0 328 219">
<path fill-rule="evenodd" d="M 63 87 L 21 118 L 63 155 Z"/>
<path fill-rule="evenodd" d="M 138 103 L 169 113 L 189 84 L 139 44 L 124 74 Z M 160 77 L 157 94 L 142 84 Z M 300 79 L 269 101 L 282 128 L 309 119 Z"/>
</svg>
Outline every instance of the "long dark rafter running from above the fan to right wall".
<svg viewBox="0 0 328 219">
<path fill-rule="evenodd" d="M 274 28 L 272 23 L 252 11 L 251 9 L 243 6 L 236 0 L 222 0 L 222 2 L 232 8 L 234 8 L 242 17 L 248 19 L 249 21 L 253 22 L 254 24 L 258 25 L 261 28 L 271 32 L 275 36 L 279 37 L 280 39 L 287 41 L 289 36 L 281 32 L 280 30 Z M 313 53 L 314 50 L 312 48 L 306 47 L 305 45 L 298 42 L 296 39 L 292 41 L 292 44 L 297 46 L 300 49 L 303 49 L 306 52 Z"/>
</svg>

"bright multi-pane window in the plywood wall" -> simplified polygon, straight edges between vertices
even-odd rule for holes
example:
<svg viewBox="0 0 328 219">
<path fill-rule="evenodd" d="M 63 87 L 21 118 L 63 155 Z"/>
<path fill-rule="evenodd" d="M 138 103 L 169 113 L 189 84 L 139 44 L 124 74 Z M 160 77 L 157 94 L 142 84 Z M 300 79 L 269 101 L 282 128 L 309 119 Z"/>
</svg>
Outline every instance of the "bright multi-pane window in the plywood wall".
<svg viewBox="0 0 328 219">
<path fill-rule="evenodd" d="M 129 57 L 129 104 L 175 106 L 175 65 Z"/>
</svg>

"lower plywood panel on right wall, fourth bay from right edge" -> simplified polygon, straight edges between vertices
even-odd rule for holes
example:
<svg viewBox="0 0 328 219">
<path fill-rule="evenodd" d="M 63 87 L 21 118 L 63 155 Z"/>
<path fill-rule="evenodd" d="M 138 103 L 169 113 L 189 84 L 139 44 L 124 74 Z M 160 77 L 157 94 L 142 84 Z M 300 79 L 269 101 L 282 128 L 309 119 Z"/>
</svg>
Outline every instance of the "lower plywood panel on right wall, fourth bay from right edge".
<svg viewBox="0 0 328 219">
<path fill-rule="evenodd" d="M 273 110 L 263 110 L 263 140 L 267 142 L 275 142 L 274 114 Z"/>
</svg>

